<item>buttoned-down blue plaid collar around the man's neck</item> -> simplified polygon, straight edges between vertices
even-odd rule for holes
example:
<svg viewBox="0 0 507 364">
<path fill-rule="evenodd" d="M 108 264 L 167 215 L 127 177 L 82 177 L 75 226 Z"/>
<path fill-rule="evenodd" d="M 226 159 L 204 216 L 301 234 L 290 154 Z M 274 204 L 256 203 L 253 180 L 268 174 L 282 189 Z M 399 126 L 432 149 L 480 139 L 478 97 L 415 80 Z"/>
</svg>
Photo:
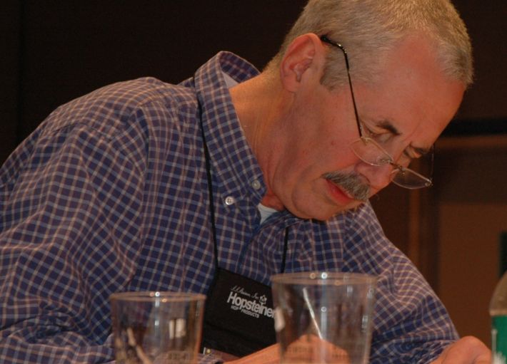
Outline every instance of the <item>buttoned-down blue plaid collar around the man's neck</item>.
<svg viewBox="0 0 507 364">
<path fill-rule="evenodd" d="M 238 83 L 258 75 L 254 66 L 229 52 L 218 53 L 196 71 L 194 82 L 211 168 L 222 197 L 250 198 L 256 205 L 266 193 L 266 185 L 234 110 L 223 73 Z"/>
</svg>

